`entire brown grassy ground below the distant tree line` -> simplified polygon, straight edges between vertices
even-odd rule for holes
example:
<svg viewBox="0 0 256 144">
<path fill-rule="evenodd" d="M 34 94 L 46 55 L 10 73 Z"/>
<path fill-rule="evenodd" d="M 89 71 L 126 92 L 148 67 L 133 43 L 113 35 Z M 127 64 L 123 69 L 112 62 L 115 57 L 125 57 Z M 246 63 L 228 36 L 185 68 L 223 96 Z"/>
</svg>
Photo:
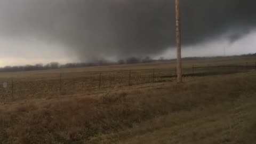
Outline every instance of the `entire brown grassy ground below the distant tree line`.
<svg viewBox="0 0 256 144">
<path fill-rule="evenodd" d="M 0 143 L 256 143 L 255 61 L 1 73 Z"/>
</svg>

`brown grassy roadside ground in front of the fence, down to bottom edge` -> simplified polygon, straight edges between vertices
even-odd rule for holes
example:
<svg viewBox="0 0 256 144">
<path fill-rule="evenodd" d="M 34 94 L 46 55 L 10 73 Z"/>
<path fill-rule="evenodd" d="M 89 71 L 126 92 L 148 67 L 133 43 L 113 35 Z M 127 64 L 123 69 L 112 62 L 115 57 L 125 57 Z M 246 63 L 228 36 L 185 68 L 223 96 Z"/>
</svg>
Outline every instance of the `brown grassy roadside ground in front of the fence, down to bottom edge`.
<svg viewBox="0 0 256 144">
<path fill-rule="evenodd" d="M 242 95 L 254 98 L 255 82 L 256 74 L 252 72 L 201 77 L 196 81 L 190 78 L 180 85 L 173 82 L 134 85 L 70 98 L 11 102 L 0 106 L 0 142 L 245 142 L 246 135 L 236 137 L 245 131 L 240 132 L 240 127 L 233 129 L 228 118 L 222 117 L 232 116 L 229 109 L 239 108 L 236 101 L 242 99 Z M 237 106 L 233 105 L 234 102 L 238 103 Z M 234 111 L 234 115 L 244 112 Z M 236 121 L 240 118 L 234 116 Z M 254 122 L 250 124 L 255 126 Z M 255 131 L 244 127 L 246 131 Z M 227 134 L 225 138 L 220 138 L 222 130 L 227 131 L 223 132 Z M 236 133 L 229 134 L 233 130 Z"/>
</svg>

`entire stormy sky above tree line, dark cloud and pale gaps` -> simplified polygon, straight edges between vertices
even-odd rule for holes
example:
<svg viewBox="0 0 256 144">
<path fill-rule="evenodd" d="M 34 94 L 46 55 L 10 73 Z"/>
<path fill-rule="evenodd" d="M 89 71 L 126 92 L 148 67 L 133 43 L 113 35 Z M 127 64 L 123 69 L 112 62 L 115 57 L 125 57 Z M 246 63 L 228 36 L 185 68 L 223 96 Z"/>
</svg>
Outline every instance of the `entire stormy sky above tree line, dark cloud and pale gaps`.
<svg viewBox="0 0 256 144">
<path fill-rule="evenodd" d="M 180 0 L 183 57 L 256 53 L 256 1 Z M 174 0 L 1 0 L 0 66 L 175 58 Z"/>
</svg>

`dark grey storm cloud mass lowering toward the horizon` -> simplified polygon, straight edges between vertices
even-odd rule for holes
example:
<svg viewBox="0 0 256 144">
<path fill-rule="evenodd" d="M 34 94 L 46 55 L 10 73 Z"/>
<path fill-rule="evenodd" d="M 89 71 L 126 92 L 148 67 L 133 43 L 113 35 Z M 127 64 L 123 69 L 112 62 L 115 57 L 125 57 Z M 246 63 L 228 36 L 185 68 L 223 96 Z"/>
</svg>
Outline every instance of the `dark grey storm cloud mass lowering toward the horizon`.
<svg viewBox="0 0 256 144">
<path fill-rule="evenodd" d="M 255 26 L 252 0 L 180 0 L 183 45 Z M 175 45 L 174 0 L 2 0 L 1 36 L 61 43 L 81 60 L 150 55 Z"/>
</svg>

